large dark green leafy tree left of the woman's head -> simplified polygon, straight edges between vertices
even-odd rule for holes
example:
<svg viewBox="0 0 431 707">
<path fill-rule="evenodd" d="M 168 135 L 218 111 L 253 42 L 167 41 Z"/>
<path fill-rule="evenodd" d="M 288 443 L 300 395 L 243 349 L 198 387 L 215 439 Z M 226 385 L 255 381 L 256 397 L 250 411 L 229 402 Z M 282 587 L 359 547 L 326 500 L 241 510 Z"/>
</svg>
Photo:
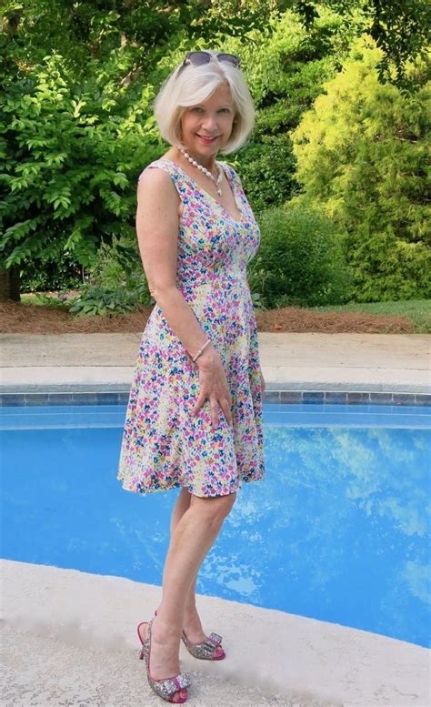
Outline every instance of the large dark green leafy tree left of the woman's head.
<svg viewBox="0 0 431 707">
<path fill-rule="evenodd" d="M 63 255 L 87 265 L 134 233 L 135 181 L 162 148 L 147 76 L 177 35 L 245 33 L 207 3 L 6 0 L 0 32 L 0 269 Z M 16 279 L 16 278 L 15 278 Z M 16 288 L 14 290 L 16 298 Z"/>
</svg>

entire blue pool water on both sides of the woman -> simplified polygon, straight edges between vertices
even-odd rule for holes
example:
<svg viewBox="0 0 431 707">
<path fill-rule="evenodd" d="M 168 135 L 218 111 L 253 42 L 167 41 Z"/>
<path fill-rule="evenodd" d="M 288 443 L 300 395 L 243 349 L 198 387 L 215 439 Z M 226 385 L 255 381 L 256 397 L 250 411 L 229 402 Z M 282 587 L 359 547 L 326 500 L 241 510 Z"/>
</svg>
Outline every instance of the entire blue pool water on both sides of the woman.
<svg viewBox="0 0 431 707">
<path fill-rule="evenodd" d="M 124 406 L 1 410 L 2 554 L 160 584 L 179 490 L 116 480 Z M 266 405 L 198 591 L 429 645 L 431 409 Z"/>
</svg>

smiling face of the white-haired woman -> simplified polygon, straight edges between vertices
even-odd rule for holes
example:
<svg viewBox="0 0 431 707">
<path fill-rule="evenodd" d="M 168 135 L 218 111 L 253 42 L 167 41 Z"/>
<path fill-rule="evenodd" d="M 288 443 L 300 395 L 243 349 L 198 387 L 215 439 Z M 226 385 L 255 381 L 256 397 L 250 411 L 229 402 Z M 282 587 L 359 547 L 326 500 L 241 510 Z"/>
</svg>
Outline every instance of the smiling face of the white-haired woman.
<svg viewBox="0 0 431 707">
<path fill-rule="evenodd" d="M 222 84 L 204 103 L 185 108 L 181 117 L 183 145 L 196 156 L 216 155 L 232 133 L 234 117 L 230 88 Z"/>
</svg>

